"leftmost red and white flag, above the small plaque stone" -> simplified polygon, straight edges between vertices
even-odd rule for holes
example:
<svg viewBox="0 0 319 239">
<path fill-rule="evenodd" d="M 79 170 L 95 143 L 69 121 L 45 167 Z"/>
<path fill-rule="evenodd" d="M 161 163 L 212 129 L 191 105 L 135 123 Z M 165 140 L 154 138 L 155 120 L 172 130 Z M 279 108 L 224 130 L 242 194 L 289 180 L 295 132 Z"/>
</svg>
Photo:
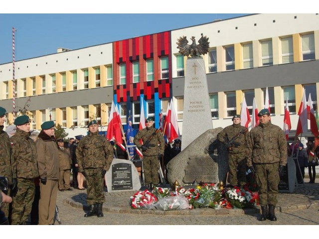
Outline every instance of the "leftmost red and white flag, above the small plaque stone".
<svg viewBox="0 0 319 239">
<path fill-rule="evenodd" d="M 121 129 L 121 117 L 118 113 L 118 110 L 116 109 L 114 102 L 112 101 L 112 106 L 111 106 L 111 113 L 109 117 L 109 124 L 108 124 L 108 130 L 106 133 L 106 138 L 111 141 L 111 140 L 116 140 L 116 144 L 119 145 L 124 151 L 125 147 L 122 144 L 123 143 L 123 138 L 122 138 L 122 129 Z"/>
</svg>

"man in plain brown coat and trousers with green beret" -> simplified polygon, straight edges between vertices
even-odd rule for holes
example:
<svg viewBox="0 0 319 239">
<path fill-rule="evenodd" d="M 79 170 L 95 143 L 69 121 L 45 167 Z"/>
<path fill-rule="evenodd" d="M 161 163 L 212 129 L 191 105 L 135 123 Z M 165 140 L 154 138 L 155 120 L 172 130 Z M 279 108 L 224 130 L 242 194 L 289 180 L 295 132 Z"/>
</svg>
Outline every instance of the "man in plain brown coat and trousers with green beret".
<svg viewBox="0 0 319 239">
<path fill-rule="evenodd" d="M 41 124 L 35 142 L 40 175 L 39 225 L 53 225 L 59 180 L 59 149 L 54 137 L 54 121 Z"/>
</svg>

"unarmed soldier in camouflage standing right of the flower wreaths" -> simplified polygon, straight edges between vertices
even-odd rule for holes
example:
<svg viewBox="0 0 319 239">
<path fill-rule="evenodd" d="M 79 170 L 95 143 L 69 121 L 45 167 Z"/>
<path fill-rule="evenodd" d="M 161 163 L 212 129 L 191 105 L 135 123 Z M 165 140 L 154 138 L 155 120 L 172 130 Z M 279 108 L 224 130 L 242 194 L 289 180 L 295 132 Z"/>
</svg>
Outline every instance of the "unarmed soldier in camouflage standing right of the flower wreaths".
<svg viewBox="0 0 319 239">
<path fill-rule="evenodd" d="M 259 125 L 250 131 L 247 141 L 247 166 L 256 176 L 260 221 L 277 221 L 279 174 L 287 164 L 287 141 L 284 131 L 270 121 L 268 109 L 258 113 Z M 268 208 L 267 208 L 268 205 Z"/>
</svg>

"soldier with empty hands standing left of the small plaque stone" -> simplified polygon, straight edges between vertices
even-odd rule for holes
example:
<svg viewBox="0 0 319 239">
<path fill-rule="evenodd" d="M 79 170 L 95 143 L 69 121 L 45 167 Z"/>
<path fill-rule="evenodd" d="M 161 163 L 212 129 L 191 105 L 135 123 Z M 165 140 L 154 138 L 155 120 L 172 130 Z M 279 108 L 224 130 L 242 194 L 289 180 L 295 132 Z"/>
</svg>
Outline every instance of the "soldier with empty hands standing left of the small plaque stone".
<svg viewBox="0 0 319 239">
<path fill-rule="evenodd" d="M 104 175 L 113 160 L 113 147 L 102 135 L 96 120 L 88 124 L 89 135 L 84 136 L 76 147 L 76 159 L 81 172 L 86 178 L 87 203 L 90 210 L 84 217 L 103 217 Z"/>
</svg>

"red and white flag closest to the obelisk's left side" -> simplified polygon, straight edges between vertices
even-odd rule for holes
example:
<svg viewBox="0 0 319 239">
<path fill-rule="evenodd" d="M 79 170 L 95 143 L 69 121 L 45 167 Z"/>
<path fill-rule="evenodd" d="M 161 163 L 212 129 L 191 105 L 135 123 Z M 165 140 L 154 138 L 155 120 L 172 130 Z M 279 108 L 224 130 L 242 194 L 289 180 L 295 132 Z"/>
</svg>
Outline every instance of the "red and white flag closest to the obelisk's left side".
<svg viewBox="0 0 319 239">
<path fill-rule="evenodd" d="M 170 100 L 169 105 L 167 106 L 166 117 L 165 117 L 165 135 L 169 142 L 172 142 L 174 139 L 178 138 L 178 123 L 175 109 L 173 106 L 173 99 Z"/>
</svg>

